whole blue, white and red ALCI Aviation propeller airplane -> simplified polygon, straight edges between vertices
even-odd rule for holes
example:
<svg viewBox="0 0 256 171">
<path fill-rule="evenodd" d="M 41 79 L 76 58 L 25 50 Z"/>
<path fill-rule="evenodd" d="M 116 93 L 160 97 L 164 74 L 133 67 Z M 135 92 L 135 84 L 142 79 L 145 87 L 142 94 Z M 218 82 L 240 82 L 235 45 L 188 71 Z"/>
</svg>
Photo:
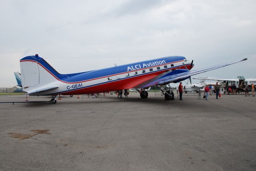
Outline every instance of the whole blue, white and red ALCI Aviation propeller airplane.
<svg viewBox="0 0 256 171">
<path fill-rule="evenodd" d="M 20 60 L 23 91 L 28 95 L 56 95 L 50 103 L 56 103 L 59 95 L 101 93 L 120 89 L 141 89 L 140 97 L 147 98 L 145 88 L 177 83 L 193 75 L 238 62 L 228 62 L 208 68 L 190 71 L 194 64 L 183 56 L 168 56 L 101 70 L 75 74 L 59 74 L 38 54 Z M 162 90 L 163 91 L 163 90 Z M 165 99 L 174 99 L 171 89 L 164 90 Z"/>
</svg>

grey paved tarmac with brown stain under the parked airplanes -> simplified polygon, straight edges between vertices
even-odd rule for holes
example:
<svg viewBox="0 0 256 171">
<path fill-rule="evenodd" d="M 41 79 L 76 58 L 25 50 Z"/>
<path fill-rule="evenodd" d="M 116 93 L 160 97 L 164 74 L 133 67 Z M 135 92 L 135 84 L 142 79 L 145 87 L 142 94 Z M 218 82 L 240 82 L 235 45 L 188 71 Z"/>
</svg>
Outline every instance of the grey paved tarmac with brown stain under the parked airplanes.
<svg viewBox="0 0 256 171">
<path fill-rule="evenodd" d="M 256 98 L 0 103 L 0 170 L 255 171 Z M 24 95 L 0 101 L 24 101 Z M 28 97 L 29 101 L 51 97 Z"/>
</svg>

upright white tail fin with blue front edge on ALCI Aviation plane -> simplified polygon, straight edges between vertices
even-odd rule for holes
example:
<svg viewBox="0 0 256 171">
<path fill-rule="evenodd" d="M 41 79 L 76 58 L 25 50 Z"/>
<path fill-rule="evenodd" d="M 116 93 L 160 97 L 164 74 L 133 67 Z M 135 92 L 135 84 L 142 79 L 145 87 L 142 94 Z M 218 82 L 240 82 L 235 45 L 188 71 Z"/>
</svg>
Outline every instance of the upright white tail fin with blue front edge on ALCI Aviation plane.
<svg viewBox="0 0 256 171">
<path fill-rule="evenodd" d="M 28 93 L 47 87 L 47 84 L 63 76 L 37 54 L 20 60 L 20 72 L 23 90 Z"/>
</svg>

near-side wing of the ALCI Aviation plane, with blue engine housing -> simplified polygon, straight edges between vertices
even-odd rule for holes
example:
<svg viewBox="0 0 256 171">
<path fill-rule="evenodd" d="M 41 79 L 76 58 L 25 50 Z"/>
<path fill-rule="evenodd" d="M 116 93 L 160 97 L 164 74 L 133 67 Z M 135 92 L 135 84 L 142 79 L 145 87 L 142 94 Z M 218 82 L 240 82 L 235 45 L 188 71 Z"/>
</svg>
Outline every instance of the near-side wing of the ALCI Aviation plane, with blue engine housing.
<svg viewBox="0 0 256 171">
<path fill-rule="evenodd" d="M 194 70 L 194 71 L 190 71 L 190 70 L 184 70 L 184 69 L 178 69 L 178 70 L 174 70 L 174 71 L 169 71 L 166 72 L 165 75 L 161 76 L 159 78 L 159 76 L 157 76 L 157 79 L 152 79 L 152 80 L 148 80 L 142 84 L 137 85 L 135 88 L 146 88 L 146 87 L 152 87 L 155 85 L 165 85 L 168 83 L 177 83 L 183 80 L 186 80 L 188 78 L 190 78 L 191 76 L 194 76 L 196 74 L 200 74 L 203 72 L 208 72 L 210 70 L 216 70 L 218 68 L 222 68 L 225 66 L 229 66 L 232 64 L 236 64 L 238 62 L 242 62 L 247 60 L 247 58 L 244 58 L 242 60 L 238 60 L 238 61 L 233 61 L 233 62 L 227 62 L 224 64 L 218 64 L 216 66 L 210 66 L 207 68 L 202 68 L 202 69 L 198 69 L 198 70 Z"/>
</svg>

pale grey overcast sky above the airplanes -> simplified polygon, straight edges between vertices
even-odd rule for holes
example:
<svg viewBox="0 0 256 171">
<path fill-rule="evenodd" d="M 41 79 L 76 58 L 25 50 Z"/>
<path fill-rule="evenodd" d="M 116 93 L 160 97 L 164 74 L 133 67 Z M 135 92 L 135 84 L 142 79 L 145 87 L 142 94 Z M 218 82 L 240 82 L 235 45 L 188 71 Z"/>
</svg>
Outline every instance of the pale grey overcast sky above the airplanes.
<svg viewBox="0 0 256 171">
<path fill-rule="evenodd" d="M 248 58 L 197 76 L 256 75 L 255 0 L 0 0 L 0 23 L 0 87 L 35 54 L 61 74 L 177 55 L 194 69 Z"/>
</svg>

